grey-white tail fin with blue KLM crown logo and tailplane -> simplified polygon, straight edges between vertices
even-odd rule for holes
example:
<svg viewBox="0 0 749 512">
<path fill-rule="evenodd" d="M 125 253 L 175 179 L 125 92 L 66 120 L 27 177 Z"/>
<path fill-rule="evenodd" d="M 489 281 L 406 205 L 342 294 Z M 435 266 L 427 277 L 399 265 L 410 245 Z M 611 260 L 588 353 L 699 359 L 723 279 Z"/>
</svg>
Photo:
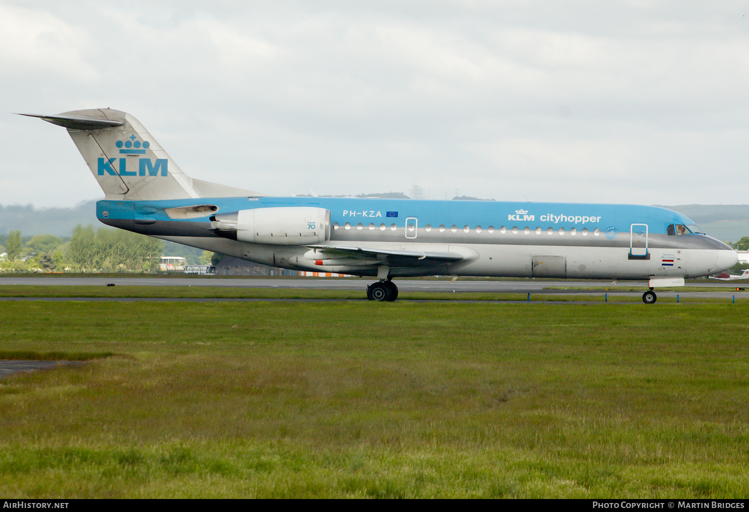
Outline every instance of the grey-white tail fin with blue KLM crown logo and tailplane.
<svg viewBox="0 0 749 512">
<path fill-rule="evenodd" d="M 260 196 L 257 192 L 193 180 L 132 115 L 87 109 L 56 115 L 22 114 L 67 128 L 110 200 Z"/>
</svg>

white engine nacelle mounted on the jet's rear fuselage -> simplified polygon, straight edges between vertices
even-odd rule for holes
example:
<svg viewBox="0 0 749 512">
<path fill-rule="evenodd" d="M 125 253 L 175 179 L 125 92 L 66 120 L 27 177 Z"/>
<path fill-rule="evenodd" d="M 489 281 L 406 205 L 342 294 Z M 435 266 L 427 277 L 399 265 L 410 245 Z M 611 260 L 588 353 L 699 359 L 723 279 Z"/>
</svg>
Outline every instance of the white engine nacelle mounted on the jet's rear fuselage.
<svg viewBox="0 0 749 512">
<path fill-rule="evenodd" d="M 306 246 L 330 240 L 330 210 L 315 207 L 255 208 L 210 217 L 220 237 L 272 246 Z"/>
</svg>

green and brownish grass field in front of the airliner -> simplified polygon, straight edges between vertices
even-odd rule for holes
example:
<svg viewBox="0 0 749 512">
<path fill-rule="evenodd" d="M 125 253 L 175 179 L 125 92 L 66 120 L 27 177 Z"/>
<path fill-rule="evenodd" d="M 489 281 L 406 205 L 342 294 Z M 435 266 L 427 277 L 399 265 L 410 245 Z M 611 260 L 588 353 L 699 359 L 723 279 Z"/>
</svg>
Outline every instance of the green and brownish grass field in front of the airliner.
<svg viewBox="0 0 749 512">
<path fill-rule="evenodd" d="M 115 354 L 0 380 L 0 494 L 745 498 L 748 313 L 0 302 L 6 354 Z"/>
</svg>

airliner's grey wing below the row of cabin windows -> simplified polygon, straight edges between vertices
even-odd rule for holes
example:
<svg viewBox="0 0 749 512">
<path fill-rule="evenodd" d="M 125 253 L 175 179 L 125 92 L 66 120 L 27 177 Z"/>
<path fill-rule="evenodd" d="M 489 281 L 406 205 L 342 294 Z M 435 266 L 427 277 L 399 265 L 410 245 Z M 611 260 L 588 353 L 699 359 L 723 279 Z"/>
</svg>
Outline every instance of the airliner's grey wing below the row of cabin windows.
<svg viewBox="0 0 749 512">
<path fill-rule="evenodd" d="M 353 246 L 306 246 L 305 257 L 318 265 L 387 265 L 421 267 L 455 263 L 464 259 L 456 252 L 397 251 Z"/>
</svg>

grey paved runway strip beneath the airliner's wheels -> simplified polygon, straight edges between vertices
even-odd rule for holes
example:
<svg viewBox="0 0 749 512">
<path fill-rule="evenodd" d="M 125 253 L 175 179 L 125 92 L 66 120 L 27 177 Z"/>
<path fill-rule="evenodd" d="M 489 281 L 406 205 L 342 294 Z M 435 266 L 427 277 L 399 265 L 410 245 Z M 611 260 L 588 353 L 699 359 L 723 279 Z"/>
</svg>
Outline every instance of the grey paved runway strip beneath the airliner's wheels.
<svg viewBox="0 0 749 512">
<path fill-rule="evenodd" d="M 310 290 L 361 290 L 366 292 L 366 287 L 375 280 L 372 278 L 164 278 L 162 276 L 146 278 L 129 277 L 0 277 L 2 284 L 28 284 L 44 286 L 216 286 L 237 288 L 285 288 L 285 289 L 310 289 Z M 395 280 L 393 281 L 401 292 L 482 292 L 482 293 L 544 293 L 544 294 L 583 294 L 583 295 L 625 295 L 641 296 L 647 288 L 647 281 L 547 281 L 541 279 L 524 279 L 518 281 L 463 281 L 458 279 L 454 283 L 450 281 L 428 281 L 428 280 Z M 710 297 L 744 299 L 749 297 L 746 292 L 741 291 L 708 291 L 710 288 L 730 288 L 743 286 L 730 282 L 716 283 L 687 283 L 688 287 L 705 288 L 705 292 L 680 292 L 659 291 L 658 296 L 681 297 Z M 593 290 L 548 290 L 549 287 L 585 287 Z M 622 288 L 637 287 L 638 291 L 626 291 Z M 619 288 L 619 290 L 617 290 Z M 110 299 L 104 299 L 110 300 Z M 169 300 L 169 299 L 166 299 Z M 191 300 L 191 299 L 187 299 Z M 207 299 L 211 300 L 211 299 Z M 231 299 L 227 299 L 231 300 Z"/>
</svg>

